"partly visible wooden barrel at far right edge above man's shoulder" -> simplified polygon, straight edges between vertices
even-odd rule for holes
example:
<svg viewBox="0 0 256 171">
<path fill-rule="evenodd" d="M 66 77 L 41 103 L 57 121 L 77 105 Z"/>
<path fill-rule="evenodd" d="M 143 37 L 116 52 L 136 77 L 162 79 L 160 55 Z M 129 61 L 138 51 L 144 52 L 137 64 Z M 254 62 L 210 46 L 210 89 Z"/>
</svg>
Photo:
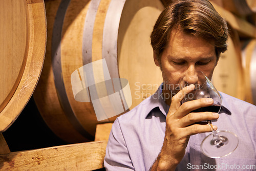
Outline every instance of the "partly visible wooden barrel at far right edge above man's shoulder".
<svg viewBox="0 0 256 171">
<path fill-rule="evenodd" d="M 256 105 L 256 39 L 247 41 L 242 52 L 246 86 L 245 100 Z"/>
</svg>

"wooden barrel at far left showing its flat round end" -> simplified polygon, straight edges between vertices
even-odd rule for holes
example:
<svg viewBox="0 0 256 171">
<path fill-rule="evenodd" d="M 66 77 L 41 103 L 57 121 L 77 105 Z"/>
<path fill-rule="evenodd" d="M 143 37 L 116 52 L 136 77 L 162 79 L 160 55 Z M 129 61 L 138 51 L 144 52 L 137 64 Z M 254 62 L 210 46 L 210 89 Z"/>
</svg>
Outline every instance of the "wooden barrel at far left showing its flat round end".
<svg viewBox="0 0 256 171">
<path fill-rule="evenodd" d="M 0 132 L 30 99 L 44 62 L 44 0 L 0 1 Z"/>
</svg>

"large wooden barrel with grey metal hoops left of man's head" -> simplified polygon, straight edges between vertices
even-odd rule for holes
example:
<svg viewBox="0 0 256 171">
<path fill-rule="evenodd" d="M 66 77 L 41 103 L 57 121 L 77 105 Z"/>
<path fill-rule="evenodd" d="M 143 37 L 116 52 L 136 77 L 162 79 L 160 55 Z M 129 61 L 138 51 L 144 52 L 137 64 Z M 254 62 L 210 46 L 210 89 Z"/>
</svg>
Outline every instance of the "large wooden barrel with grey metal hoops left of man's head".
<svg viewBox="0 0 256 171">
<path fill-rule="evenodd" d="M 98 122 L 91 102 L 74 99 L 71 74 L 105 59 L 111 78 L 129 81 L 132 106 L 153 94 L 162 82 L 155 66 L 150 34 L 163 5 L 160 0 L 46 1 L 48 39 L 44 69 L 34 99 L 61 139 L 92 141 Z M 102 72 L 102 68 L 94 69 Z M 97 78 L 95 78 L 97 79 Z"/>
</svg>

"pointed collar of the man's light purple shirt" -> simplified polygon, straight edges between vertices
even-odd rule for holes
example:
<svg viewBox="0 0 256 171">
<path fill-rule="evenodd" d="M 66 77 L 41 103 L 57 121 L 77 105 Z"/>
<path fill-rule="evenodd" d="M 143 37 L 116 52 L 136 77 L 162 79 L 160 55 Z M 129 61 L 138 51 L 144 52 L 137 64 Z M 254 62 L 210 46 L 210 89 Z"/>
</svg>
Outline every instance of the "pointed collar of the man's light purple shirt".
<svg viewBox="0 0 256 171">
<path fill-rule="evenodd" d="M 146 100 L 144 100 L 144 104 L 147 105 L 147 108 L 145 111 L 145 113 L 146 113 L 145 118 L 155 108 L 159 108 L 159 110 L 162 112 L 162 114 L 164 114 L 165 117 L 167 116 L 170 106 L 165 103 L 162 91 L 163 91 L 163 83 L 159 86 L 159 88 L 155 94 L 153 94 L 152 96 L 150 96 Z M 220 93 L 220 94 L 221 94 L 221 98 L 223 99 L 222 93 Z M 222 101 L 222 102 L 224 102 L 224 101 Z M 225 113 L 227 115 L 231 115 L 231 112 L 228 110 L 228 108 L 226 108 L 226 105 L 227 104 L 225 102 L 224 102 L 224 104 L 222 104 L 221 111 L 219 113 L 220 114 Z M 228 105 L 227 105 L 227 107 L 228 107 Z"/>
</svg>

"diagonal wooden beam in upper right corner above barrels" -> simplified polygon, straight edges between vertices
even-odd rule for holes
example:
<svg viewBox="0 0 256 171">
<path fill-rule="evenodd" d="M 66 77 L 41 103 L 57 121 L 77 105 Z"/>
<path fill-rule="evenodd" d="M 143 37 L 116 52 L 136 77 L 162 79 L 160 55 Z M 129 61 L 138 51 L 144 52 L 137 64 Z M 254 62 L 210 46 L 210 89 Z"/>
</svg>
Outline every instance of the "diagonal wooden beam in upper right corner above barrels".
<svg viewBox="0 0 256 171">
<path fill-rule="evenodd" d="M 224 8 L 220 7 L 212 1 L 211 4 L 214 6 L 216 11 L 219 12 L 219 14 L 224 19 L 226 19 L 226 21 L 233 27 L 233 29 L 236 29 L 238 32 L 240 32 L 242 35 L 246 37 L 256 37 L 256 29 L 252 24 L 248 23 L 245 19 L 239 18 L 238 16 L 225 10 Z"/>
</svg>

